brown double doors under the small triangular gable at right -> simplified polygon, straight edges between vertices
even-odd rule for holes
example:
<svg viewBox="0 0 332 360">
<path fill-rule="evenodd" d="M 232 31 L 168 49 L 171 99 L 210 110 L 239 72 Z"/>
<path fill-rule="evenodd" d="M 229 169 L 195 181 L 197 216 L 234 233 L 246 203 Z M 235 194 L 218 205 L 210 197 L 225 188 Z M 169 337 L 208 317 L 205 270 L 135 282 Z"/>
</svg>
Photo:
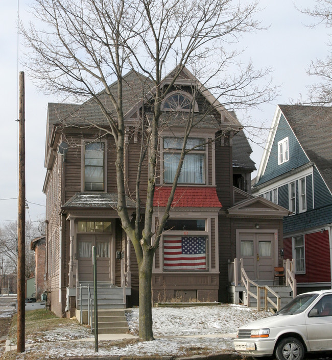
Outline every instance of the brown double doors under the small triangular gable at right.
<svg viewBox="0 0 332 360">
<path fill-rule="evenodd" d="M 273 280 L 275 244 L 273 233 L 239 233 L 238 259 L 251 280 Z"/>
</svg>

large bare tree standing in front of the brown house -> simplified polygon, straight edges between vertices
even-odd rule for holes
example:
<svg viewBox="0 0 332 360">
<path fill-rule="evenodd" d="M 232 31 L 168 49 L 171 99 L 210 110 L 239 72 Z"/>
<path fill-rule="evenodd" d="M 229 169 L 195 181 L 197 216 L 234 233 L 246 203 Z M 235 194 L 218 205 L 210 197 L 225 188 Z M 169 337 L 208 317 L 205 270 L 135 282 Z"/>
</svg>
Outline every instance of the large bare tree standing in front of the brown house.
<svg viewBox="0 0 332 360">
<path fill-rule="evenodd" d="M 242 5 L 233 0 L 36 0 L 34 3 L 32 13 L 36 21 L 21 27 L 27 41 L 26 65 L 46 93 L 74 101 L 88 98 L 98 104 L 107 127 L 96 122 L 90 125 L 114 137 L 117 212 L 134 246 L 139 269 L 139 338 L 153 340 L 153 257 L 188 151 L 186 141 L 192 128 L 201 121 L 193 112 L 184 119 L 184 141 L 171 195 L 152 234 L 158 141 L 162 127 L 170 126 L 161 119 L 161 102 L 184 67 L 199 80 L 191 85 L 193 89 L 197 92 L 209 89 L 224 106 L 233 109 L 257 106 L 274 97 L 268 79 L 270 69 L 255 70 L 252 64 L 243 65 L 237 60 L 241 51 L 234 50 L 242 34 L 260 28 L 254 19 L 258 2 Z M 150 116 L 141 117 L 141 134 L 145 136 L 137 163 L 134 223 L 126 207 L 123 171 L 126 133 L 123 89 L 124 74 L 129 70 L 144 75 L 137 78 L 141 79 L 141 100 L 150 109 Z M 109 85 L 113 81 L 116 91 Z M 259 86 L 259 82 L 263 85 Z M 101 91 L 107 101 L 101 99 Z M 148 189 L 143 198 L 140 173 L 145 161 L 149 164 Z"/>
</svg>

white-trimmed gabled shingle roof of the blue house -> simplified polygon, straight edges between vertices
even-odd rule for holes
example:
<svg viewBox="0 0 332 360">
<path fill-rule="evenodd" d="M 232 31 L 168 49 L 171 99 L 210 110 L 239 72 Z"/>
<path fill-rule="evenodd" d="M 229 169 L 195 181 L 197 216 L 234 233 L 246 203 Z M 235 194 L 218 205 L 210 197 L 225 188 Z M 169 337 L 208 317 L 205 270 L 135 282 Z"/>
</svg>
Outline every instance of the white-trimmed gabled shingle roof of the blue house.
<svg viewBox="0 0 332 360">
<path fill-rule="evenodd" d="M 315 163 L 326 185 L 332 190 L 332 107 L 278 105 L 255 184 L 263 176 L 280 116 L 283 114 L 309 161 Z M 290 155 L 291 156 L 291 155 Z"/>
</svg>

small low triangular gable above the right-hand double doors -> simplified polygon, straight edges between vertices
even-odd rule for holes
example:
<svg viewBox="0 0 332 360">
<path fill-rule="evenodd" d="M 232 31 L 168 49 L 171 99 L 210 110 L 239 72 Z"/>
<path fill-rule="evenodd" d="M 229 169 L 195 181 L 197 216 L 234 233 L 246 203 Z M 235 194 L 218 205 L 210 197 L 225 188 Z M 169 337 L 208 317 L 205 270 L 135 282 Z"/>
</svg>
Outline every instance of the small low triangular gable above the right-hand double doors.
<svg viewBox="0 0 332 360">
<path fill-rule="evenodd" d="M 262 196 L 240 201 L 227 209 L 228 217 L 283 218 L 291 213 Z"/>
</svg>

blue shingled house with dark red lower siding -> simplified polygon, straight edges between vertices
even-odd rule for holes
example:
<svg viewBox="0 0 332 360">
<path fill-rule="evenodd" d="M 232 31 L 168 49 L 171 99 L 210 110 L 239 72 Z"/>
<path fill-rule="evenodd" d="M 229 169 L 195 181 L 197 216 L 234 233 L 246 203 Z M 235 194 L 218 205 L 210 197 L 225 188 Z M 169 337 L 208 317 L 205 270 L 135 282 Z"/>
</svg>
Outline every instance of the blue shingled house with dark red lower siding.
<svg viewBox="0 0 332 360">
<path fill-rule="evenodd" d="M 278 105 L 252 189 L 289 209 L 283 256 L 298 293 L 331 287 L 332 107 Z"/>
</svg>

